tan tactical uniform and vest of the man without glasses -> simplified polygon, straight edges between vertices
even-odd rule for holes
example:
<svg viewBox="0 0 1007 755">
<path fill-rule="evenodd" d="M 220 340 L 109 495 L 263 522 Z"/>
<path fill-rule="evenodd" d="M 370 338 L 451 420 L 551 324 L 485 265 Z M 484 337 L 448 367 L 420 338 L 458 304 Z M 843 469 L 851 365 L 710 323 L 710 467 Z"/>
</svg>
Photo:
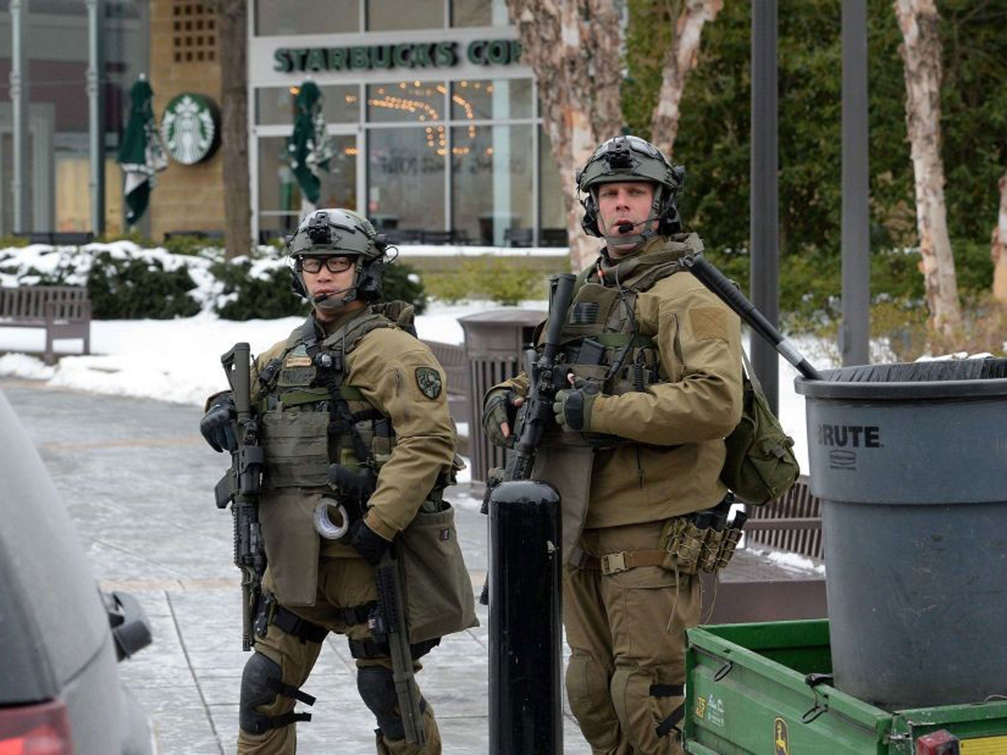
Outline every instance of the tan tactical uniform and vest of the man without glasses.
<svg viewBox="0 0 1007 755">
<path fill-rule="evenodd" d="M 674 517 L 727 493 L 723 438 L 740 419 L 742 395 L 738 317 L 690 273 L 676 272 L 679 257 L 701 249 L 695 235 L 659 237 L 618 265 L 581 274 L 563 338 L 568 350 L 588 337 L 606 353 L 593 367 L 574 355 L 574 372 L 601 380 L 620 348 L 630 352 L 594 401 L 594 447 L 554 430 L 536 457 L 533 477 L 563 498 L 567 695 L 594 753 L 681 752 L 675 726 L 699 578 L 653 554 Z M 527 379 L 505 385 L 520 391 Z"/>
</svg>

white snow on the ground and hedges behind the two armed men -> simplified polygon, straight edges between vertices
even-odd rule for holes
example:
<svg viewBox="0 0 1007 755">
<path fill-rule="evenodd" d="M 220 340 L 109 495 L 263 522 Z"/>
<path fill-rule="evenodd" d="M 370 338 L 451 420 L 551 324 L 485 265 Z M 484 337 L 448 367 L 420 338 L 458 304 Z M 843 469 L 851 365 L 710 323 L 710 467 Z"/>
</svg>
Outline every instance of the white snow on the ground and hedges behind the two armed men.
<svg viewBox="0 0 1007 755">
<path fill-rule="evenodd" d="M 48 385 L 102 394 L 149 397 L 160 401 L 201 406 L 210 394 L 227 387 L 219 356 L 239 341 L 248 341 L 253 353 L 260 353 L 285 339 L 300 318 L 277 320 L 222 320 L 212 312 L 220 297 L 220 284 L 208 273 L 210 260 L 201 256 L 172 255 L 163 249 L 141 249 L 131 242 L 90 244 L 80 249 L 32 245 L 0 250 L 0 285 L 32 283 L 27 271 L 43 275 L 70 272 L 66 282 L 83 284 L 91 259 L 97 252 L 109 252 L 115 258 L 139 257 L 157 262 L 165 270 L 184 265 L 196 283 L 192 296 L 203 311 L 194 317 L 173 320 L 93 320 L 91 350 L 85 356 L 64 356 L 55 367 L 23 352 L 41 352 L 45 338 L 41 328 L 5 328 L 0 324 L 0 375 L 45 381 Z M 494 247 L 432 247 L 403 245 L 399 255 L 500 255 L 556 257 L 565 259 L 566 249 L 510 249 Z M 264 259 L 256 266 L 269 268 L 284 264 L 282 259 Z M 256 268 L 253 269 L 255 273 Z M 17 275 L 15 275 L 17 273 Z M 523 302 L 522 308 L 545 311 L 544 301 Z M 502 309 L 492 302 L 475 301 L 445 305 L 434 302 L 426 314 L 417 318 L 416 327 L 424 340 L 460 344 L 464 333 L 458 320 L 466 315 Z M 828 344 L 815 339 L 794 339 L 809 359 L 820 367 L 830 366 Z M 58 350 L 80 349 L 80 340 L 65 340 Z M 808 468 L 808 443 L 805 432 L 805 402 L 794 392 L 798 372 L 779 359 L 779 417 L 786 432 L 795 439 L 795 452 L 803 469 Z"/>
</svg>

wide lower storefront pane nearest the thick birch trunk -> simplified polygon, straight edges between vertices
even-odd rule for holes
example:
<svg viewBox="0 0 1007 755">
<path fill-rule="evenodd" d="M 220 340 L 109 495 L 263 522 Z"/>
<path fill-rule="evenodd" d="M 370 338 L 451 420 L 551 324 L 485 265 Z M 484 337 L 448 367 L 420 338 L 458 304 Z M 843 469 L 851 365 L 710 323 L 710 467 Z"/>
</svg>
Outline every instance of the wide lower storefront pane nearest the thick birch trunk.
<svg viewBox="0 0 1007 755">
<path fill-rule="evenodd" d="M 532 126 L 451 130 L 456 230 L 481 246 L 530 246 L 535 152 Z"/>
</svg>

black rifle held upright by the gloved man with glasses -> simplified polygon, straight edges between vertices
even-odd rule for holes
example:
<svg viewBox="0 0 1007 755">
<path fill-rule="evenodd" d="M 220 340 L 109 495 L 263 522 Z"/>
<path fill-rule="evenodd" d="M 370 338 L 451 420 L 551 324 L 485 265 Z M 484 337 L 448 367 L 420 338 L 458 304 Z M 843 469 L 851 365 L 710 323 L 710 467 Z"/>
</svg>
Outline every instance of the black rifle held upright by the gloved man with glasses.
<svg viewBox="0 0 1007 755">
<path fill-rule="evenodd" d="M 231 469 L 217 483 L 217 507 L 231 503 L 235 518 L 235 566 L 242 570 L 242 649 L 252 649 L 252 620 L 262 597 L 266 553 L 259 526 L 259 483 L 264 455 L 259 447 L 259 427 L 252 417 L 252 376 L 248 343 L 236 343 L 221 357 L 235 397 L 238 414 L 238 449 L 231 454 Z"/>
</svg>

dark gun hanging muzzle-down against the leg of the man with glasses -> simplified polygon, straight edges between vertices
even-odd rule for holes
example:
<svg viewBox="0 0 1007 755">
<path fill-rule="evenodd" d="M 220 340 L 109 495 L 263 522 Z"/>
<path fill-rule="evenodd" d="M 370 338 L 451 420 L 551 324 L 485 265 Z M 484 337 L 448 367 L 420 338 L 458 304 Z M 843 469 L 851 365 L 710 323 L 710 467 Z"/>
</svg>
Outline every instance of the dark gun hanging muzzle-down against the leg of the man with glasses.
<svg viewBox="0 0 1007 755">
<path fill-rule="evenodd" d="M 406 730 L 406 741 L 422 747 L 426 743 L 420 691 L 413 673 L 413 653 L 409 646 L 402 577 L 399 560 L 393 555 L 398 546 L 389 549 L 375 572 L 378 584 L 378 613 L 372 619 L 371 633 L 388 639 L 392 655 L 392 680 L 399 699 L 399 712 Z"/>
</svg>

